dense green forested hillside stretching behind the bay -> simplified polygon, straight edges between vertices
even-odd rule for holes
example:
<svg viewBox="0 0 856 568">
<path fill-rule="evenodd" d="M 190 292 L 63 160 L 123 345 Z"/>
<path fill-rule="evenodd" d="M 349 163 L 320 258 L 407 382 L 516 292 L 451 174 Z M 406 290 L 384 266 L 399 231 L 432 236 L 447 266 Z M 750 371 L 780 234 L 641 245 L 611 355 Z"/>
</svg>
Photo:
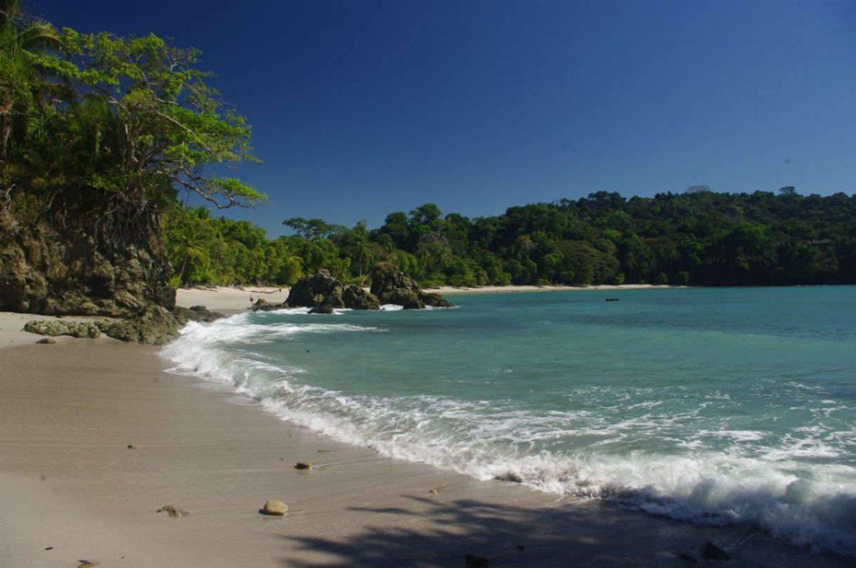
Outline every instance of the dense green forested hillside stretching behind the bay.
<svg viewBox="0 0 856 568">
<path fill-rule="evenodd" d="M 294 236 L 267 240 L 249 222 L 175 210 L 167 231 L 175 282 L 288 285 L 319 268 L 360 281 L 377 261 L 424 285 L 856 281 L 856 195 L 801 196 L 790 187 L 630 199 L 597 192 L 474 219 L 424 204 L 374 230 L 284 223 Z"/>
</svg>

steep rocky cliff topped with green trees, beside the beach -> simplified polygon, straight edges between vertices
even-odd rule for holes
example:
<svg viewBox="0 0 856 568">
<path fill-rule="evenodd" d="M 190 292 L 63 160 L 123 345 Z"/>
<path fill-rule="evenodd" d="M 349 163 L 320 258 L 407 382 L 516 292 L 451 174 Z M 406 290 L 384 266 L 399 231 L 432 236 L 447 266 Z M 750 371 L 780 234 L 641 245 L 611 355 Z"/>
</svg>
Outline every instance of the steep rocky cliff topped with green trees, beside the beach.
<svg viewBox="0 0 856 568">
<path fill-rule="evenodd" d="M 59 31 L 0 0 L 0 309 L 171 308 L 162 228 L 178 192 L 264 199 L 210 175 L 257 160 L 198 59 L 155 35 Z"/>
</svg>

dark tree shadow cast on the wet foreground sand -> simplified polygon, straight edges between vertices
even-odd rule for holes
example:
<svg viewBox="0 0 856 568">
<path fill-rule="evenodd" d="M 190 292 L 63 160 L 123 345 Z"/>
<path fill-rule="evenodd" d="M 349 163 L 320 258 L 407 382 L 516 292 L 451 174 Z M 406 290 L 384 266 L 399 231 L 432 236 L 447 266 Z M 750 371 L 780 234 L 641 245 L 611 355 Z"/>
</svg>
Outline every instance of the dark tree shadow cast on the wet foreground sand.
<svg viewBox="0 0 856 568">
<path fill-rule="evenodd" d="M 789 566 L 846 565 L 749 528 L 699 526 L 603 503 L 531 509 L 400 495 L 412 507 L 350 507 L 366 524 L 347 537 L 282 535 L 283 565 L 317 566 Z M 730 560 L 704 559 L 713 541 Z M 472 556 L 467 559 L 467 554 Z"/>
</svg>

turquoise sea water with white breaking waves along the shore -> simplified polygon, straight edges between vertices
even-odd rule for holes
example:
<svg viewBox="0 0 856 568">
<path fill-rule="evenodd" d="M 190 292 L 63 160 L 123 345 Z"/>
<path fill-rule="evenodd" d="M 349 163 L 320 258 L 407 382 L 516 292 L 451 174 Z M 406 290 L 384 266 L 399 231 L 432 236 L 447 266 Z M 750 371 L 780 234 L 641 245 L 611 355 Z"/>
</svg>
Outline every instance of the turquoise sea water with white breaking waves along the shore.
<svg viewBox="0 0 856 568">
<path fill-rule="evenodd" d="M 856 287 L 450 299 L 191 323 L 163 356 L 384 455 L 856 555 Z"/>
</svg>

